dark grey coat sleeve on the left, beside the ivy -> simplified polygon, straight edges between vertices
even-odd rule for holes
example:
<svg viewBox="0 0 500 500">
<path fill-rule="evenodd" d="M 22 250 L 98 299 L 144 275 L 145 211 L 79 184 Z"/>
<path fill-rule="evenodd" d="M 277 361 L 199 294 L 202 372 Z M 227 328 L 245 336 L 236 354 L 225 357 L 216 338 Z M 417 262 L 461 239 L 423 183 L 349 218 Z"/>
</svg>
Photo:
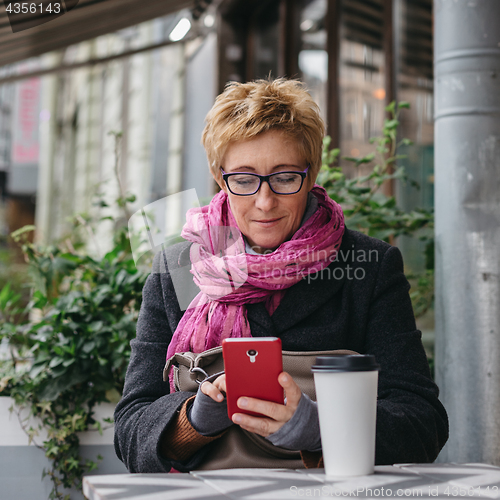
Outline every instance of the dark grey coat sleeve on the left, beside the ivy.
<svg viewBox="0 0 500 500">
<path fill-rule="evenodd" d="M 169 472 L 172 467 L 190 470 L 203 457 L 201 452 L 190 463 L 180 464 L 167 460 L 160 453 L 164 431 L 184 401 L 193 395 L 189 392 L 169 394 L 169 384 L 163 382 L 163 367 L 173 328 L 172 318 L 169 318 L 172 315 L 167 316 L 165 305 L 169 302 L 168 310 L 178 307 L 172 307 L 172 301 L 177 304 L 177 299 L 162 257 L 162 253 L 155 256 L 153 272 L 144 285 L 123 396 L 114 414 L 116 454 L 130 472 Z M 181 314 L 180 310 L 178 313 Z"/>
</svg>

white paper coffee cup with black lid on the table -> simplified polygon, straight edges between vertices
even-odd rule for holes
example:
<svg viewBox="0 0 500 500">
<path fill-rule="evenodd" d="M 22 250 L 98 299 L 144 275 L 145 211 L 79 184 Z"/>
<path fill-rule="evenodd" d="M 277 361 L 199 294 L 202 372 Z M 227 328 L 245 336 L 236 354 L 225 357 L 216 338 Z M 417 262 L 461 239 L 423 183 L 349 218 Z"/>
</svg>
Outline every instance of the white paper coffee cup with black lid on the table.
<svg viewBox="0 0 500 500">
<path fill-rule="evenodd" d="M 327 476 L 373 474 L 379 369 L 372 355 L 316 358 L 312 371 Z"/>
</svg>

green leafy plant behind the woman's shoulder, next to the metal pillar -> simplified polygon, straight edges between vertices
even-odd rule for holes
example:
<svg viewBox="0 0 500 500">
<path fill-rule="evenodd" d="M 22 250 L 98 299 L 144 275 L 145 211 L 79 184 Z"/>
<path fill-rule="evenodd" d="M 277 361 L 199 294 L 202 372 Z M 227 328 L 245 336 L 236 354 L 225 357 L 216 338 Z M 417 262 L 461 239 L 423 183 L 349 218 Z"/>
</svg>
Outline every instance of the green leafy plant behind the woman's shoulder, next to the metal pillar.
<svg viewBox="0 0 500 500">
<path fill-rule="evenodd" d="M 397 206 L 394 196 L 384 194 L 382 189 L 387 183 L 412 182 L 404 166 L 397 163 L 406 158 L 406 155 L 398 154 L 398 148 L 411 145 L 409 139 L 398 139 L 400 113 L 409 107 L 407 102 L 392 102 L 385 108 L 389 118 L 384 120 L 382 134 L 370 139 L 375 150 L 366 156 L 341 156 L 340 149 L 331 149 L 331 138 L 326 137 L 323 165 L 316 182 L 342 206 L 346 225 L 350 229 L 391 243 L 402 235 L 425 242 L 426 270 L 423 273 L 407 273 L 412 283 L 410 297 L 415 316 L 419 317 L 434 302 L 434 212 L 423 208 L 406 212 Z M 341 158 L 354 170 L 365 166 L 365 172 L 369 171 L 348 177 L 340 165 Z M 412 184 L 418 188 L 415 182 Z"/>
</svg>

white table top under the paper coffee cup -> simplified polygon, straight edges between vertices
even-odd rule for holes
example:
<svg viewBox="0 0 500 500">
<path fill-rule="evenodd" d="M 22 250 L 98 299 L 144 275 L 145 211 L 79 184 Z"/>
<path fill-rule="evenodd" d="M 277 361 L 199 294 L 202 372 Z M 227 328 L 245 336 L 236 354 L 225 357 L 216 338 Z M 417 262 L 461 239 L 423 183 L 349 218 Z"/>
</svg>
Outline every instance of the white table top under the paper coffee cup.
<svg viewBox="0 0 500 500">
<path fill-rule="evenodd" d="M 292 498 L 500 498 L 500 467 L 397 464 L 375 474 L 326 477 L 323 469 L 226 469 L 189 474 L 86 476 L 89 500 L 280 500 Z"/>
</svg>

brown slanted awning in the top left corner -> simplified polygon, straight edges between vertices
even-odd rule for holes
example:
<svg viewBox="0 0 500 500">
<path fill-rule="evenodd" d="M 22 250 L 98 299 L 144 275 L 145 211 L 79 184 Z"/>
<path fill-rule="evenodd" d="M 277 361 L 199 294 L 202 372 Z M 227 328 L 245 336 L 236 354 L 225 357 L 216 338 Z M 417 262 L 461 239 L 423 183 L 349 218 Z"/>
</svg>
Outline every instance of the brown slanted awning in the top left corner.
<svg viewBox="0 0 500 500">
<path fill-rule="evenodd" d="M 22 0 L 13 0 L 12 4 L 14 1 L 22 3 Z M 79 0 L 74 8 L 59 17 L 28 29 L 23 29 L 23 27 L 30 26 L 29 23 L 33 23 L 33 20 L 17 16 L 14 29 L 22 29 L 22 31 L 16 33 L 12 31 L 6 3 L 8 2 L 0 2 L 0 66 L 90 40 L 184 8 L 195 8 L 199 3 L 209 2 L 199 0 Z M 46 3 L 44 1 L 44 4 Z M 75 0 L 71 0 L 71 3 L 74 4 Z M 70 0 L 66 0 L 68 8 L 69 4 Z"/>
</svg>

